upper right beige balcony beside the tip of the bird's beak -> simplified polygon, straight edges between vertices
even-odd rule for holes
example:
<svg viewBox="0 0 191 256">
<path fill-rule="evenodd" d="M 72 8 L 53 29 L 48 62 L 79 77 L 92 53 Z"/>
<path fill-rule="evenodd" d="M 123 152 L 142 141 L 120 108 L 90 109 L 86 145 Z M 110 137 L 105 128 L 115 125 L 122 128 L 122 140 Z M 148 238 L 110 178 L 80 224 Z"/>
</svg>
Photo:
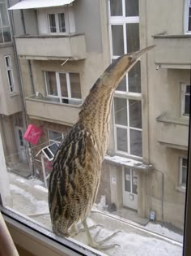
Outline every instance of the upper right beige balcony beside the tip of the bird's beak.
<svg viewBox="0 0 191 256">
<path fill-rule="evenodd" d="M 156 65 L 190 69 L 191 35 L 155 35 L 154 44 Z"/>
</svg>

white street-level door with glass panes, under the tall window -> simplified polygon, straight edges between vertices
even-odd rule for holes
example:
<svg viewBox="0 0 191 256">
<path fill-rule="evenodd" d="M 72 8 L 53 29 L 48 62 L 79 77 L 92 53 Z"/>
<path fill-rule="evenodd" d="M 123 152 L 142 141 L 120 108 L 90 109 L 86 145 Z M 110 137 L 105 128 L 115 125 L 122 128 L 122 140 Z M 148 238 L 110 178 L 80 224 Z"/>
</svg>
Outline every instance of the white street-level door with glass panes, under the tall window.
<svg viewBox="0 0 191 256">
<path fill-rule="evenodd" d="M 123 168 L 123 205 L 138 210 L 138 171 Z"/>
</svg>

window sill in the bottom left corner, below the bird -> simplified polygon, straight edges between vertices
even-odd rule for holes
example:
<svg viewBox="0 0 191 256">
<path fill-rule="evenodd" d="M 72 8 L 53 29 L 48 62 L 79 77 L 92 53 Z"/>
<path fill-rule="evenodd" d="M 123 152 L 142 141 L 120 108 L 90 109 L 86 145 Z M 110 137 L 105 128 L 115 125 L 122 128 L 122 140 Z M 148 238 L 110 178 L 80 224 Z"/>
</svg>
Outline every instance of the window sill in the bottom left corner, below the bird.
<svg viewBox="0 0 191 256">
<path fill-rule="evenodd" d="M 7 228 L 16 245 L 20 245 L 28 252 L 39 255 L 65 255 L 65 256 L 106 256 L 96 249 L 73 241 L 72 238 L 62 238 L 43 227 L 41 224 L 31 221 L 26 216 L 18 215 L 15 211 L 0 207 Z"/>
</svg>

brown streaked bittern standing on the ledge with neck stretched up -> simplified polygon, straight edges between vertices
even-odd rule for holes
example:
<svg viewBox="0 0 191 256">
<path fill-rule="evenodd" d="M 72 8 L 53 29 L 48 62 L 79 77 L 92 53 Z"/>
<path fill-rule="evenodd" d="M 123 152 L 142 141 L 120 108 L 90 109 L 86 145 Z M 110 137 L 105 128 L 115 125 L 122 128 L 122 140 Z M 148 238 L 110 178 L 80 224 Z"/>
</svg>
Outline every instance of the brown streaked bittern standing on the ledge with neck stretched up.
<svg viewBox="0 0 191 256">
<path fill-rule="evenodd" d="M 83 102 L 78 122 L 59 146 L 49 177 L 53 232 L 69 236 L 69 228 L 81 220 L 89 245 L 105 248 L 91 238 L 86 219 L 96 199 L 101 165 L 108 147 L 112 98 L 125 73 L 151 48 L 153 46 L 125 54 L 108 66 Z"/>
</svg>

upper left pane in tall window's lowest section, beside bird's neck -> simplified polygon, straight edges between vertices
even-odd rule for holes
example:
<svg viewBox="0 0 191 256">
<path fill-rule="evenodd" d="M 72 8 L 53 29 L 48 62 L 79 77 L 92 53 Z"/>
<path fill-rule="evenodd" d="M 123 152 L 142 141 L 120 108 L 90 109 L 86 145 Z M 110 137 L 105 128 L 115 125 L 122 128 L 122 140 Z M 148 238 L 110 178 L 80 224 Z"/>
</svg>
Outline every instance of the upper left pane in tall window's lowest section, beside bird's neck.
<svg viewBox="0 0 191 256">
<path fill-rule="evenodd" d="M 127 101 L 114 98 L 115 124 L 127 125 Z"/>
</svg>

